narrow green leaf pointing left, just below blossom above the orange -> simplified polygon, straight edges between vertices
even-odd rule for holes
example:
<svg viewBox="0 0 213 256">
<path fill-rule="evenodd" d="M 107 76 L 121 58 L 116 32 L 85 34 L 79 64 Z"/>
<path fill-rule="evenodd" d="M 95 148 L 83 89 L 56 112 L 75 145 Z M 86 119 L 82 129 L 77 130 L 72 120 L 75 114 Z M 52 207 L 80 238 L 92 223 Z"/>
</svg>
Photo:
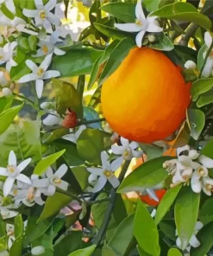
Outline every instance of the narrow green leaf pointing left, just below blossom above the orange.
<svg viewBox="0 0 213 256">
<path fill-rule="evenodd" d="M 107 35 L 107 36 L 111 37 L 112 39 L 122 40 L 126 37 L 130 37 L 132 39 L 135 38 L 135 35 L 132 33 L 125 32 L 125 31 L 122 31 L 119 29 L 113 29 L 113 28 L 110 28 L 108 26 L 105 26 L 105 25 L 97 23 L 97 22 L 94 22 L 94 26 L 103 35 Z"/>
</svg>

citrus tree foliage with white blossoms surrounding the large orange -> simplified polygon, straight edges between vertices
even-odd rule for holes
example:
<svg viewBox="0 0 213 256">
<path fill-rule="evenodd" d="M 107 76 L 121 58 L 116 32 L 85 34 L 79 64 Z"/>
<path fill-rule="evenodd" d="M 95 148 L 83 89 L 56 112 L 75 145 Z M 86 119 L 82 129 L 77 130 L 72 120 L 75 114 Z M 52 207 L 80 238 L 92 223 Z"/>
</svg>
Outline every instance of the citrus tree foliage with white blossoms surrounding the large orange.
<svg viewBox="0 0 213 256">
<path fill-rule="evenodd" d="M 83 0 L 75 40 L 61 23 L 73 4 L 0 1 L 0 255 L 211 255 L 213 2 Z M 165 54 L 191 85 L 179 129 L 150 144 L 101 109 L 133 48 Z"/>
</svg>

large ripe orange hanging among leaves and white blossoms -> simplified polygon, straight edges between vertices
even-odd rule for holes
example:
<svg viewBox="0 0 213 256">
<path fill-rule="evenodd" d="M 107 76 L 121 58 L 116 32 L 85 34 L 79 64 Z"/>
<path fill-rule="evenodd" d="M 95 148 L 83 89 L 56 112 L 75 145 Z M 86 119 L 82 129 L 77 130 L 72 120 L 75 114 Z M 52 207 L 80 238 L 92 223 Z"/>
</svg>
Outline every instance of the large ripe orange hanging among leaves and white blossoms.
<svg viewBox="0 0 213 256">
<path fill-rule="evenodd" d="M 190 85 L 165 54 L 133 48 L 103 83 L 103 115 L 130 140 L 152 143 L 179 128 L 190 103 Z"/>
</svg>

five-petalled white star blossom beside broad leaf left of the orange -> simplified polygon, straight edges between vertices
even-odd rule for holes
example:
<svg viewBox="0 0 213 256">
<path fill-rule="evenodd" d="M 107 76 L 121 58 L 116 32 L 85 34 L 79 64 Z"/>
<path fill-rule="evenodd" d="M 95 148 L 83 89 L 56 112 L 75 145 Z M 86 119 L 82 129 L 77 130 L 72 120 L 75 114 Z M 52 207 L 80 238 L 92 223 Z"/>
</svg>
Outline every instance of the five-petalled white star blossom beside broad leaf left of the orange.
<svg viewBox="0 0 213 256">
<path fill-rule="evenodd" d="M 28 81 L 35 80 L 35 89 L 38 98 L 41 98 L 44 87 L 44 80 L 60 76 L 59 71 L 47 70 L 52 61 L 52 57 L 53 54 L 47 54 L 44 61 L 41 62 L 41 65 L 39 67 L 37 67 L 34 61 L 27 60 L 26 65 L 32 70 L 33 73 L 25 74 L 20 80 L 18 80 L 19 83 L 27 83 Z"/>
</svg>

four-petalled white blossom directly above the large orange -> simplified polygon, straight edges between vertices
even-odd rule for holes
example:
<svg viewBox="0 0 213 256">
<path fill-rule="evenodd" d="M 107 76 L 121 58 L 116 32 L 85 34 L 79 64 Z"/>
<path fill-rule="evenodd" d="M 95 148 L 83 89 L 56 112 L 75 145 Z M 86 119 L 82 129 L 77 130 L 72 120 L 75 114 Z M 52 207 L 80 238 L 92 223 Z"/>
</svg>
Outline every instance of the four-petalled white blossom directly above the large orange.
<svg viewBox="0 0 213 256">
<path fill-rule="evenodd" d="M 115 23 L 115 27 L 123 31 L 139 32 L 136 35 L 135 41 L 137 46 L 141 48 L 142 39 L 146 32 L 158 33 L 163 31 L 163 29 L 160 28 L 159 23 L 156 21 L 156 18 L 157 18 L 156 16 L 147 16 L 146 18 L 142 10 L 141 0 L 138 0 L 136 4 L 135 16 L 136 16 L 135 23 L 123 23 L 123 24 Z"/>
</svg>

